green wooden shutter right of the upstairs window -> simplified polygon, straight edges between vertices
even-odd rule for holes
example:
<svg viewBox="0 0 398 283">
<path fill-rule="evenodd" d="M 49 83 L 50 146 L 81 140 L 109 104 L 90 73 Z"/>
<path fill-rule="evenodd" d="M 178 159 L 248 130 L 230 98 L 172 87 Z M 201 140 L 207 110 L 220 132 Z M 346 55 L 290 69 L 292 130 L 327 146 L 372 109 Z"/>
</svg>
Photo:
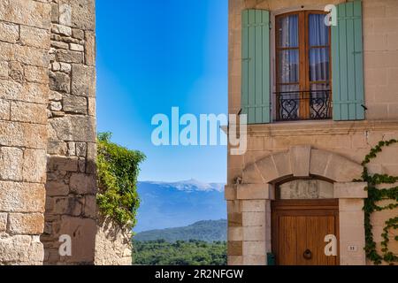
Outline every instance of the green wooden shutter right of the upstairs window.
<svg viewBox="0 0 398 283">
<path fill-rule="evenodd" d="M 364 119 L 362 2 L 337 6 L 332 27 L 333 119 Z"/>
</svg>

